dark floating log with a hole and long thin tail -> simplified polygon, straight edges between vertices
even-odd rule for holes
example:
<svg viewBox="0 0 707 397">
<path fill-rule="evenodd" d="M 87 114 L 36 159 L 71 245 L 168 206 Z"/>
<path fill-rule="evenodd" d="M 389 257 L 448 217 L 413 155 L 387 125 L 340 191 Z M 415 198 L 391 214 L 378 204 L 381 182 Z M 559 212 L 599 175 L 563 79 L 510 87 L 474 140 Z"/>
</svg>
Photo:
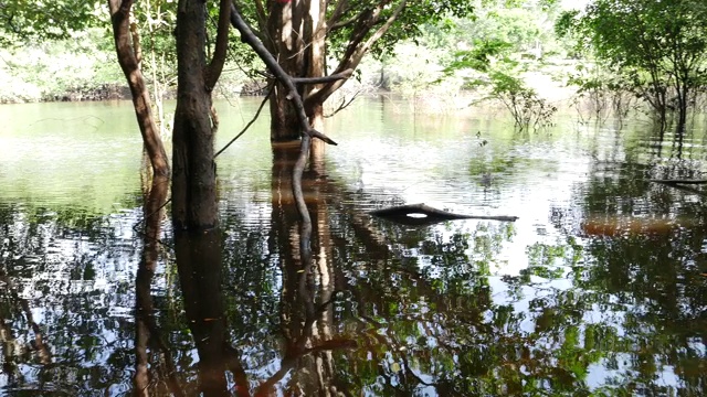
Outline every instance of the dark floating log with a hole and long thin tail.
<svg viewBox="0 0 707 397">
<path fill-rule="evenodd" d="M 400 205 L 390 208 L 376 210 L 371 215 L 382 217 L 403 225 L 432 225 L 444 221 L 455 219 L 488 219 L 500 222 L 515 222 L 517 216 L 487 216 L 487 215 L 464 215 L 433 208 L 424 203 Z"/>
</svg>

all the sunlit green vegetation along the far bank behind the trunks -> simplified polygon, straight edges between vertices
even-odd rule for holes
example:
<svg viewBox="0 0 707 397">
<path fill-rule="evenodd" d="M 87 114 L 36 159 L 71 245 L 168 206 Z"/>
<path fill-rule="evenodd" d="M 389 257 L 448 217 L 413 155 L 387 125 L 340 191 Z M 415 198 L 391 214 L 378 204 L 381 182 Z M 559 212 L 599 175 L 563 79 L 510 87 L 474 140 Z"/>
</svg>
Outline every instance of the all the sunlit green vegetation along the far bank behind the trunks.
<svg viewBox="0 0 707 397">
<path fill-rule="evenodd" d="M 699 3 L 695 1 L 685 3 Z M 656 9 L 626 0 L 594 0 L 597 7 L 584 10 L 557 1 L 473 2 L 473 19 L 421 22 L 414 37 L 403 35 L 372 49 L 357 63 L 354 78 L 327 95 L 320 117 L 334 115 L 356 96 L 386 95 L 407 99 L 415 114 L 509 112 L 520 129 L 551 125 L 558 110 L 573 109 L 581 122 L 636 115 L 661 128 L 675 122 L 683 131 L 690 117 L 707 108 L 707 36 L 699 26 L 685 28 L 693 20 L 707 21 L 704 8 L 677 8 L 673 11 L 682 12 L 680 18 L 667 21 L 653 19 L 662 4 L 653 4 Z M 643 37 L 640 29 L 613 31 L 623 24 L 602 24 L 627 18 L 629 6 L 635 6 L 631 15 L 636 25 L 655 25 L 654 41 L 646 43 L 651 51 L 635 45 Z M 140 68 L 162 120 L 161 101 L 173 99 L 177 89 L 173 23 L 171 17 L 149 21 L 161 22 L 144 26 Z M 67 39 L 0 35 L 6 44 L 0 49 L 0 104 L 129 100 L 113 37 L 105 28 L 88 26 L 94 28 L 61 35 Z M 676 33 L 664 37 L 666 32 Z M 236 41 L 232 44 L 213 98 L 263 94 L 264 64 Z M 327 60 L 331 65 L 335 61 Z"/>
</svg>

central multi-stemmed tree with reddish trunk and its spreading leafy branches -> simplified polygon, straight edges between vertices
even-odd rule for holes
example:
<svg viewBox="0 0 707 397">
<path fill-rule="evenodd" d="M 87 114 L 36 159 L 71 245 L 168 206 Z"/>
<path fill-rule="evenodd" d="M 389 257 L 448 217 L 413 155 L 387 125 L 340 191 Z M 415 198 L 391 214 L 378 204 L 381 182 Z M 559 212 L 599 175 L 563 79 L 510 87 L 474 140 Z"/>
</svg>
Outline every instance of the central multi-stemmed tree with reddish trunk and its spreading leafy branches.
<svg viewBox="0 0 707 397">
<path fill-rule="evenodd" d="M 414 37 L 424 23 L 447 14 L 471 15 L 468 0 L 239 1 L 239 9 L 267 50 L 293 77 L 351 73 L 367 53 L 389 52 L 397 42 Z M 335 67 L 327 61 L 336 56 Z M 300 88 L 305 111 L 321 130 L 323 104 L 344 81 Z M 271 100 L 271 139 L 299 137 L 296 112 L 287 90 L 277 86 Z"/>
</svg>

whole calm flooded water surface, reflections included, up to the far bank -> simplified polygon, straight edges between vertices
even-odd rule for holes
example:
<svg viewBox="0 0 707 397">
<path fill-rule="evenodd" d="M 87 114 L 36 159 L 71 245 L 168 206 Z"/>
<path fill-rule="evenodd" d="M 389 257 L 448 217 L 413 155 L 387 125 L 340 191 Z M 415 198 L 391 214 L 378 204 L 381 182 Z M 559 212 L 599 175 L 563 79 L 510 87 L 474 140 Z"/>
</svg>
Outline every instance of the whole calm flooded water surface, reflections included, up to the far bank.
<svg viewBox="0 0 707 397">
<path fill-rule="evenodd" d="M 257 103 L 220 104 L 219 146 Z M 700 178 L 704 128 L 661 140 L 570 115 L 517 132 L 360 100 L 305 175 L 303 267 L 294 154 L 271 149 L 265 119 L 218 160 L 220 234 L 175 240 L 151 216 L 162 244 L 146 245 L 129 104 L 0 117 L 0 394 L 706 391 L 704 195 L 648 182 Z M 421 202 L 519 219 L 369 214 Z"/>
</svg>

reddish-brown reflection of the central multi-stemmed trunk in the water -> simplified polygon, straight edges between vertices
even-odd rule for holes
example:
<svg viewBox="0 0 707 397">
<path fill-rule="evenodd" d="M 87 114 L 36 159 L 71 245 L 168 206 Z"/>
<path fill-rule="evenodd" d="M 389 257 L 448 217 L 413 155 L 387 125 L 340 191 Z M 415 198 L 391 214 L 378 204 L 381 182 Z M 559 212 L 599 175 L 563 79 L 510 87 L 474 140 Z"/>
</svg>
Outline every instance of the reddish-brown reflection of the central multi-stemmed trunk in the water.
<svg viewBox="0 0 707 397">
<path fill-rule="evenodd" d="M 271 240 L 278 245 L 282 292 L 279 319 L 283 332 L 283 352 L 279 373 L 288 374 L 284 388 L 300 390 L 306 396 L 327 395 L 335 384 L 330 348 L 334 324 L 331 298 L 335 278 L 330 264 L 330 232 L 326 218 L 324 195 L 316 181 L 316 172 L 306 172 L 303 193 L 309 212 L 315 216 L 309 235 L 298 227 L 300 217 L 293 196 L 292 168 L 299 157 L 294 143 L 273 144 L 272 192 L 273 208 Z M 318 250 L 315 261 L 312 251 L 304 253 L 302 239 L 312 240 Z M 319 248 L 326 244 L 326 248 Z M 273 251 L 278 249 L 272 248 Z M 309 351 L 309 352 L 308 352 Z M 324 365 L 321 365 L 324 364 Z M 262 383 L 254 395 L 274 395 L 274 385 L 282 376 L 273 376 Z"/>
</svg>

